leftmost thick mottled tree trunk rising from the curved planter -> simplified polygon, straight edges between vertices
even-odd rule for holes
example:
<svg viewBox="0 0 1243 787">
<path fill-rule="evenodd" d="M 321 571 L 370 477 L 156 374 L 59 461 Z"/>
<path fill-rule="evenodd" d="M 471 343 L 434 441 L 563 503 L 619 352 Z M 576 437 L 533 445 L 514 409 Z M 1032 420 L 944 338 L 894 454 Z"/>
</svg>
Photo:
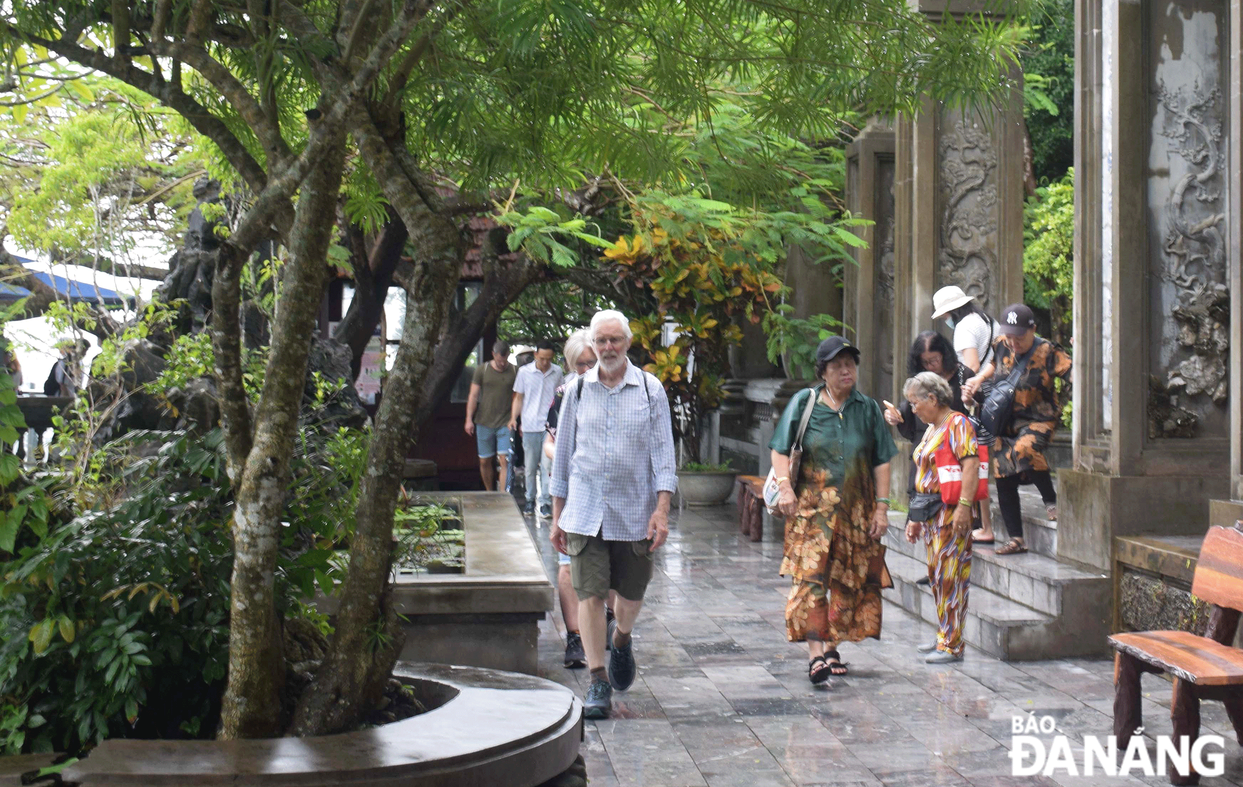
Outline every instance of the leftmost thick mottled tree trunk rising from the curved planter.
<svg viewBox="0 0 1243 787">
<path fill-rule="evenodd" d="M 302 184 L 290 235 L 291 261 L 272 325 L 252 447 L 234 508 L 229 684 L 220 713 L 220 739 L 271 737 L 281 732 L 285 659 L 273 572 L 311 336 L 328 282 L 327 252 L 343 169 L 344 137 L 338 134 Z M 234 300 L 227 319 L 236 323 Z M 219 310 L 221 304 L 216 307 Z"/>
</svg>

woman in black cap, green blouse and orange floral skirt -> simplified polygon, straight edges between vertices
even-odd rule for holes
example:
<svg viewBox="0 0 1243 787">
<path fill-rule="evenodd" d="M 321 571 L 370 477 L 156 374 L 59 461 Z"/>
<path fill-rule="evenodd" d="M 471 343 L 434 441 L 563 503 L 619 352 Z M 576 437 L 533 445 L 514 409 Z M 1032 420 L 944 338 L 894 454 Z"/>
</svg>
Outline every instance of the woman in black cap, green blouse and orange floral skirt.
<svg viewBox="0 0 1243 787">
<path fill-rule="evenodd" d="M 781 573 L 793 578 L 786 633 L 807 642 L 814 684 L 845 675 L 839 642 L 880 638 L 880 537 L 889 526 L 889 461 L 897 453 L 880 406 L 855 390 L 859 350 L 830 336 L 815 353 L 823 380 L 799 391 L 768 447 L 786 515 Z M 810 406 L 798 477 L 789 454 Z"/>
</svg>

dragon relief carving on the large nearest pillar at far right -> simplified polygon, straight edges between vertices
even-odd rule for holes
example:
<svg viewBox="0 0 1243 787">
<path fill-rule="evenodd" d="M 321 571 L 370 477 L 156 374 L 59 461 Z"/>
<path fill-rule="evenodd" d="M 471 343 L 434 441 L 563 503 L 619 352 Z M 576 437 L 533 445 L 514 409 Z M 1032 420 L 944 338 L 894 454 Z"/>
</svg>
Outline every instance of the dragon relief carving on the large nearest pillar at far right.
<svg viewBox="0 0 1243 787">
<path fill-rule="evenodd" d="M 1229 288 L 1226 284 L 1226 223 L 1222 204 L 1222 124 L 1216 119 L 1221 91 L 1196 82 L 1168 89 L 1157 87 L 1165 109 L 1160 132 L 1170 153 L 1187 163 L 1165 206 L 1161 278 L 1173 284 L 1177 303 L 1170 314 L 1178 326 L 1177 344 L 1186 355 L 1166 379 L 1152 380 L 1151 437 L 1195 437 L 1201 416 L 1180 402 L 1207 396 L 1216 405 L 1229 397 Z M 1175 417 L 1171 417 L 1173 415 Z"/>
</svg>

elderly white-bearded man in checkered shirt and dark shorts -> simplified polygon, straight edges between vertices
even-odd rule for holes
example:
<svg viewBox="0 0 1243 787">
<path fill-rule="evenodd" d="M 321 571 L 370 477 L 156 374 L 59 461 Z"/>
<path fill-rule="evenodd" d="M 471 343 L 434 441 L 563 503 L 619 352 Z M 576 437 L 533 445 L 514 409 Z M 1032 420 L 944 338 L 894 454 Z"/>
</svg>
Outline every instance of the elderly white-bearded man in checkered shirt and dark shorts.
<svg viewBox="0 0 1243 787">
<path fill-rule="evenodd" d="M 569 555 L 578 626 L 592 670 L 588 719 L 607 719 L 613 689 L 634 683 L 630 642 L 651 580 L 653 552 L 669 535 L 677 489 L 669 397 L 655 376 L 630 362 L 630 323 L 620 312 L 592 318 L 599 362 L 564 395 L 552 465 L 552 544 Z M 605 623 L 604 601 L 617 591 Z M 612 641 L 608 667 L 605 638 Z"/>
</svg>

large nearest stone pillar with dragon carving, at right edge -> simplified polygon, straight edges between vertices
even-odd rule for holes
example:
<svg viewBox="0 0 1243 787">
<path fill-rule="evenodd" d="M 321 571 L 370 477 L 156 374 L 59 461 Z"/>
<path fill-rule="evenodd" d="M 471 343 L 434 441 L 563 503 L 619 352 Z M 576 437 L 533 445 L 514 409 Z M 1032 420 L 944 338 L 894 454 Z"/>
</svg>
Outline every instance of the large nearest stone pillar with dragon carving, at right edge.
<svg viewBox="0 0 1243 787">
<path fill-rule="evenodd" d="M 1103 569 L 1114 536 L 1202 534 L 1239 456 L 1229 16 L 1214 0 L 1076 2 L 1075 467 L 1059 472 L 1058 550 Z"/>
</svg>

